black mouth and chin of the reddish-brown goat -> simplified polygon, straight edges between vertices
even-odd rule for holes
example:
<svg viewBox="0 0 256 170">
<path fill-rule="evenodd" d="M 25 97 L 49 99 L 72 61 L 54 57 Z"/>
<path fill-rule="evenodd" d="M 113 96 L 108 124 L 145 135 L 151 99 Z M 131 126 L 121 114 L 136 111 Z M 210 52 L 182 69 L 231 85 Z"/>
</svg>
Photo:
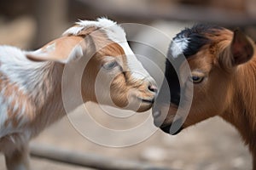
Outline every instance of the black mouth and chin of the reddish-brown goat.
<svg viewBox="0 0 256 170">
<path fill-rule="evenodd" d="M 177 119 L 177 121 L 172 122 L 169 125 L 161 126 L 160 129 L 165 133 L 176 135 L 177 133 L 180 133 L 183 130 L 182 123 L 183 123 L 183 121 L 180 118 L 180 119 Z"/>
</svg>

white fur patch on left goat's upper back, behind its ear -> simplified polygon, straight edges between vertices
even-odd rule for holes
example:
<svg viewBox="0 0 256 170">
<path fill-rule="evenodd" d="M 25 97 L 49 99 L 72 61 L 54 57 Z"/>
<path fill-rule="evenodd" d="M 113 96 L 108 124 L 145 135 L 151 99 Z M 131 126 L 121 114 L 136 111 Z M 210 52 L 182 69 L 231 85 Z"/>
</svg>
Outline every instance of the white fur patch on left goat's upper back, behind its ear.
<svg viewBox="0 0 256 170">
<path fill-rule="evenodd" d="M 44 83 L 44 68 L 48 62 L 32 62 L 19 48 L 0 46 L 0 63 L 3 75 L 8 76 L 11 83 L 18 85 L 24 94 L 27 90 L 40 89 L 40 85 Z"/>
</svg>

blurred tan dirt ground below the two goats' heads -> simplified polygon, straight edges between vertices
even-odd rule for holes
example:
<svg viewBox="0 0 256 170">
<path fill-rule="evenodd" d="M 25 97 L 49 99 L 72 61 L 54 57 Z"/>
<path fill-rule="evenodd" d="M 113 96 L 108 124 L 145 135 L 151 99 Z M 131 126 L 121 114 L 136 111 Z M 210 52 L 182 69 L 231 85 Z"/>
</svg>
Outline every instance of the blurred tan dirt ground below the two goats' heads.
<svg viewBox="0 0 256 170">
<path fill-rule="evenodd" d="M 90 111 L 94 109 L 97 113 L 101 112 L 96 105 L 90 104 L 88 107 L 90 107 Z M 93 131 L 93 129 L 86 126 L 86 120 L 82 118 L 83 113 L 76 112 L 72 114 L 77 118 L 75 119 L 76 122 L 84 123 L 84 127 Z M 147 115 L 147 113 L 144 114 Z M 149 115 L 150 111 L 148 111 Z M 105 123 L 102 124 L 109 127 L 112 118 L 105 116 L 102 112 L 102 114 L 97 114 L 95 120 L 99 120 L 97 118 L 100 116 L 103 117 Z M 143 117 L 138 119 L 142 120 Z M 123 123 L 125 126 L 133 124 L 133 122 Z M 102 132 L 95 133 L 100 137 L 108 135 Z M 137 135 L 143 135 L 143 132 L 137 132 Z M 111 138 L 109 136 L 109 139 Z M 154 165 L 172 167 L 173 169 L 245 170 L 251 168 L 250 155 L 242 144 L 240 136 L 233 127 L 217 117 L 202 122 L 195 127 L 190 127 L 177 136 L 170 136 L 158 130 L 140 144 L 121 148 L 109 148 L 90 142 L 74 129 L 66 117 L 44 131 L 32 142 L 53 144 L 57 147 L 79 152 L 96 153 L 113 157 L 113 159 L 144 161 Z"/>
</svg>

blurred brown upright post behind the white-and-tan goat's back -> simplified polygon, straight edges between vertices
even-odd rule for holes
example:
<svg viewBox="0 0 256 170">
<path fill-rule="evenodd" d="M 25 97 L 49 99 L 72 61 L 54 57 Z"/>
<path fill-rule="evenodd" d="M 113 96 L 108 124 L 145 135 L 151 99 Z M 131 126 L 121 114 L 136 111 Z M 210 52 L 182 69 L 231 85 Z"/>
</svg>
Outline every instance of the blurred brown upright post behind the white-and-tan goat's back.
<svg viewBox="0 0 256 170">
<path fill-rule="evenodd" d="M 39 48 L 65 29 L 67 0 L 38 0 L 34 5 L 37 33 L 32 48 Z"/>
</svg>

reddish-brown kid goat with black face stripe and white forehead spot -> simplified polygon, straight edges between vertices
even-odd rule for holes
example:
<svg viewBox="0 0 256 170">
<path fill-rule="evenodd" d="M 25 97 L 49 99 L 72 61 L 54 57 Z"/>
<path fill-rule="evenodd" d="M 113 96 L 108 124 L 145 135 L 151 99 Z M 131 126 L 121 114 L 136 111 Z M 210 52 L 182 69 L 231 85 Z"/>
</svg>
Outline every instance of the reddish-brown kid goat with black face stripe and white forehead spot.
<svg viewBox="0 0 256 170">
<path fill-rule="evenodd" d="M 154 108 L 154 123 L 164 132 L 176 134 L 209 117 L 221 116 L 241 133 L 253 155 L 253 169 L 256 170 L 254 50 L 254 42 L 241 31 L 219 26 L 197 25 L 178 33 L 169 48 L 171 62 L 166 61 L 171 99 L 165 101 L 166 89 L 161 88 L 160 102 L 157 99 Z M 184 69 L 186 62 L 189 74 L 184 72 L 187 71 Z M 189 101 L 191 107 L 187 115 L 184 108 L 190 105 Z M 166 117 L 163 116 L 165 111 Z"/>
</svg>

